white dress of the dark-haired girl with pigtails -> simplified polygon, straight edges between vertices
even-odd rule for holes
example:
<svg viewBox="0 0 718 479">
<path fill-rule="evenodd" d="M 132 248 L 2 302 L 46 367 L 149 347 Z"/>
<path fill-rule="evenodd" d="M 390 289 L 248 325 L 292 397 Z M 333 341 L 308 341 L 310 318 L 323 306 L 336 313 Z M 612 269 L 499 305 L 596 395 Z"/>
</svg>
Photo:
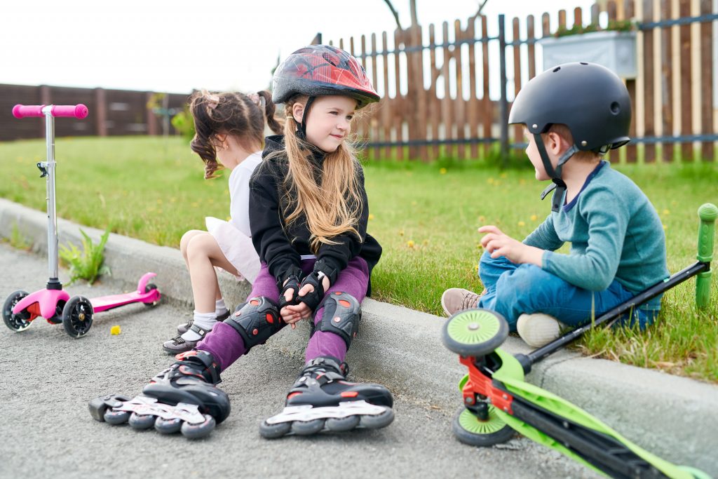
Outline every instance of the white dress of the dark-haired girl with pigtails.
<svg viewBox="0 0 718 479">
<path fill-rule="evenodd" d="M 207 231 L 215 238 L 227 261 L 238 271 L 238 279 L 253 283 L 259 274 L 259 256 L 249 229 L 249 178 L 262 161 L 262 152 L 254 152 L 229 175 L 230 220 L 205 218 Z"/>
</svg>

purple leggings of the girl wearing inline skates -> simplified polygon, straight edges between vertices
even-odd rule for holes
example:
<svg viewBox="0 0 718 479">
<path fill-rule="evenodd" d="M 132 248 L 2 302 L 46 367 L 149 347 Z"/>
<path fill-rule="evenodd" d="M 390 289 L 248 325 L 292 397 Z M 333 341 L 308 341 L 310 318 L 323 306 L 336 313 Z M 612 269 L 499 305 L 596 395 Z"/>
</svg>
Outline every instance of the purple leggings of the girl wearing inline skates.
<svg viewBox="0 0 718 479">
<path fill-rule="evenodd" d="M 309 274 L 314 269 L 314 261 L 316 260 L 305 259 L 302 261 L 304 274 Z M 351 294 L 361 303 L 366 296 L 368 284 L 369 268 L 363 258 L 356 256 L 340 272 L 335 284 L 332 284 L 325 294 L 336 291 L 345 292 Z M 252 292 L 249 294 L 248 299 L 255 296 L 269 297 L 273 301 L 279 301 L 279 289 L 276 287 L 276 279 L 269 274 L 269 269 L 264 263 L 262 263 L 259 274 L 252 284 Z M 323 313 L 324 307 L 320 307 L 314 314 L 314 325 L 319 324 Z M 214 329 L 208 332 L 205 339 L 197 344 L 197 349 L 212 353 L 219 363 L 220 371 L 224 371 L 247 352 L 239 333 L 223 322 L 218 322 Z M 346 355 L 347 345 L 340 335 L 316 330 L 312 339 L 309 340 L 304 358 L 307 363 L 319 356 L 334 356 L 339 361 L 344 361 Z"/>
</svg>

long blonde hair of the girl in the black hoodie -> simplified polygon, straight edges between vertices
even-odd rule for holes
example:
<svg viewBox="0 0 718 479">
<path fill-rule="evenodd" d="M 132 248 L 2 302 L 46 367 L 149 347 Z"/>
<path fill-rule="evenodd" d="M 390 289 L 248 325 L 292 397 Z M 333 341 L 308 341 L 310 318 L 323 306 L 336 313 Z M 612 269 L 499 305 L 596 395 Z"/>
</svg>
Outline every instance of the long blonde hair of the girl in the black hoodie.
<svg viewBox="0 0 718 479">
<path fill-rule="evenodd" d="M 359 194 L 359 162 L 352 147 L 342 142 L 335 152 L 327 153 L 322 164 L 321 185 L 314 179 L 312 145 L 297 136 L 297 122 L 292 116 L 294 103 L 306 102 L 307 96 L 294 96 L 286 102 L 284 147 L 289 172 L 284 179 L 284 218 L 286 227 L 302 213 L 307 218 L 309 247 L 314 254 L 322 244 L 337 244 L 332 238 L 357 230 L 362 215 L 363 198 Z M 304 111 L 304 115 L 309 112 Z"/>
</svg>

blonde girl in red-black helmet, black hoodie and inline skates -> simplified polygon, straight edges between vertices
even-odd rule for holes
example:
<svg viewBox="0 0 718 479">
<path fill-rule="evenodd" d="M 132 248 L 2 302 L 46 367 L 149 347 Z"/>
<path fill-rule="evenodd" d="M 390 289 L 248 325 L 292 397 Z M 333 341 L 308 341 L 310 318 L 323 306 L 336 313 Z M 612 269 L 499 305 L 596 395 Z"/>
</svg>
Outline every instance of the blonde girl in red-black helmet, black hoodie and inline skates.
<svg viewBox="0 0 718 479">
<path fill-rule="evenodd" d="M 230 412 L 227 394 L 216 387 L 220 372 L 286 325 L 309 320 L 304 367 L 284 410 L 261 423 L 261 435 L 376 429 L 393 421 L 388 389 L 348 382 L 345 363 L 381 256 L 381 246 L 366 232 L 363 172 L 347 140 L 355 111 L 379 96 L 355 57 L 312 45 L 276 69 L 272 101 L 284 103 L 286 122 L 284 136 L 266 139 L 250 180 L 251 240 L 261 261 L 250 296 L 193 350 L 177 355 L 141 396 L 91 401 L 96 418 L 103 408 L 124 408 L 134 411 L 129 422 L 135 427 L 206 435 Z M 205 421 L 183 415 L 188 408 Z M 105 420 L 121 422 L 109 414 Z"/>
</svg>

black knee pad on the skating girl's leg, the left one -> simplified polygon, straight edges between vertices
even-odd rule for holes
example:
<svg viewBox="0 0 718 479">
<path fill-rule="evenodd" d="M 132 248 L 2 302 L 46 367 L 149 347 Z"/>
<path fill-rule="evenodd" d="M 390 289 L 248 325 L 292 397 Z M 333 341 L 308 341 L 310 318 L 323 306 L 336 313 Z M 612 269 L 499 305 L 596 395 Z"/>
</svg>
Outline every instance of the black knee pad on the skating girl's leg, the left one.
<svg viewBox="0 0 718 479">
<path fill-rule="evenodd" d="M 266 343 L 271 335 L 286 325 L 279 317 L 276 302 L 264 296 L 253 297 L 240 304 L 224 322 L 239 333 L 247 350 Z"/>
</svg>

